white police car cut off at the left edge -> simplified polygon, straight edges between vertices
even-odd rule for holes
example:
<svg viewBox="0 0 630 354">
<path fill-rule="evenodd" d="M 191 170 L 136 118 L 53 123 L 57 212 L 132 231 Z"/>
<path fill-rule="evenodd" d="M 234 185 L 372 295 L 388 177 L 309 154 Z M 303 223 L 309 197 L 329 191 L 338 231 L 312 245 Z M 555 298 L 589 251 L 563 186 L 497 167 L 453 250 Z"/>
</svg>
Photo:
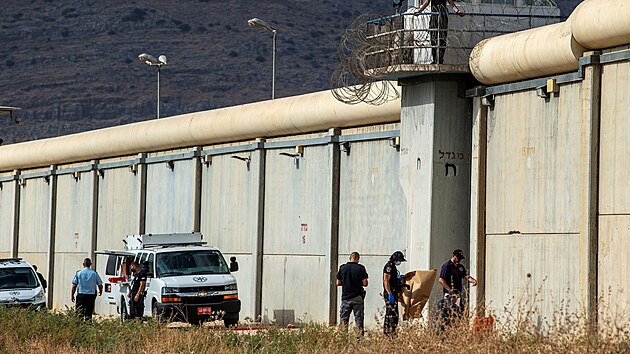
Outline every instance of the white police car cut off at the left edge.
<svg viewBox="0 0 630 354">
<path fill-rule="evenodd" d="M 0 306 L 46 307 L 44 287 L 30 263 L 21 258 L 0 259 Z"/>
</svg>

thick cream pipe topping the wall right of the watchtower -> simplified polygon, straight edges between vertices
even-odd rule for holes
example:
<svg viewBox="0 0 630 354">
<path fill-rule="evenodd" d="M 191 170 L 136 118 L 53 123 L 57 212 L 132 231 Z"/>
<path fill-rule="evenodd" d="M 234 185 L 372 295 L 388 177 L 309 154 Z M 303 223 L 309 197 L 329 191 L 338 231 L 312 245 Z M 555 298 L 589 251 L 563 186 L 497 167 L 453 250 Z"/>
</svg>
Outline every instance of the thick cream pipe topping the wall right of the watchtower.
<svg viewBox="0 0 630 354">
<path fill-rule="evenodd" d="M 470 71 L 486 85 L 560 74 L 578 69 L 589 49 L 630 42 L 630 0 L 586 0 L 563 23 L 479 42 Z"/>
</svg>

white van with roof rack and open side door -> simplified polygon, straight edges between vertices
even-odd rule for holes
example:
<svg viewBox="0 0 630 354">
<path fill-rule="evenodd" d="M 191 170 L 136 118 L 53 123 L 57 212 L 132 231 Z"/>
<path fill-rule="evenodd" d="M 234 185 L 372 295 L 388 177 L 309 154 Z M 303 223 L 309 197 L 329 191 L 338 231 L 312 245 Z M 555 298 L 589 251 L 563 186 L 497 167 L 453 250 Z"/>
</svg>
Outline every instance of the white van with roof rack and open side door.
<svg viewBox="0 0 630 354">
<path fill-rule="evenodd" d="M 137 261 L 146 267 L 144 316 L 200 324 L 223 320 L 238 323 L 236 257 L 226 263 L 221 251 L 205 246 L 203 236 L 192 234 L 129 235 L 123 251 L 97 251 L 108 255 L 105 269 L 105 301 L 116 305 L 125 320 L 129 313 L 129 266 Z"/>
</svg>

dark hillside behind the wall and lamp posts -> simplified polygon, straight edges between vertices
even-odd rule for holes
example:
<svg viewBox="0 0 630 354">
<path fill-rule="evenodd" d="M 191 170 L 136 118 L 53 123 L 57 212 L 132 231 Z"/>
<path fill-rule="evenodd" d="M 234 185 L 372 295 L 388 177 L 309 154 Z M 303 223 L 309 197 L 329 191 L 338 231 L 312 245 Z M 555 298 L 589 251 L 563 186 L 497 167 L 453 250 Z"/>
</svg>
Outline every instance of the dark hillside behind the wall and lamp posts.
<svg viewBox="0 0 630 354">
<path fill-rule="evenodd" d="M 271 33 L 278 30 L 276 97 L 328 88 L 337 43 L 362 13 L 390 1 L 7 0 L 0 23 L 0 116 L 6 143 L 155 117 L 156 70 L 137 59 L 164 54 L 161 116 L 270 98 Z"/>
</svg>

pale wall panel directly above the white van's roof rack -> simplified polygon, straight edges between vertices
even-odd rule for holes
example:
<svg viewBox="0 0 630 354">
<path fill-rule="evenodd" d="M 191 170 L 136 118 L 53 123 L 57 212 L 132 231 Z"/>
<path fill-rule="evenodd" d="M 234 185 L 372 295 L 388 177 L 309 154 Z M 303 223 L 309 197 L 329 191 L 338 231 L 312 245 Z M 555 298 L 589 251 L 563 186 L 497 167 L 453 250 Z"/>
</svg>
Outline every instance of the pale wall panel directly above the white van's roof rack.
<svg viewBox="0 0 630 354">
<path fill-rule="evenodd" d="M 146 233 L 192 232 L 195 160 L 154 163 L 147 171 Z"/>
</svg>

